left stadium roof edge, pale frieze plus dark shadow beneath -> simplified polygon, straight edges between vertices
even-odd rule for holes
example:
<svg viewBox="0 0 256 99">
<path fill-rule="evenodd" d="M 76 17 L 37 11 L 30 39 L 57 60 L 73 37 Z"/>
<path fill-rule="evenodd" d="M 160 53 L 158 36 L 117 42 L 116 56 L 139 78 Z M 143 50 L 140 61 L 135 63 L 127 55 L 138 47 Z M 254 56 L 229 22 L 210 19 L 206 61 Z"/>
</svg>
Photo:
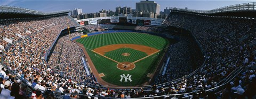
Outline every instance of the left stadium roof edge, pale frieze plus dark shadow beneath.
<svg viewBox="0 0 256 99">
<path fill-rule="evenodd" d="M 27 8 L 0 5 L 0 19 L 16 19 L 27 17 L 44 17 L 59 14 L 67 14 L 70 10 L 56 11 L 56 12 L 41 12 L 36 10 L 30 10 Z"/>
</svg>

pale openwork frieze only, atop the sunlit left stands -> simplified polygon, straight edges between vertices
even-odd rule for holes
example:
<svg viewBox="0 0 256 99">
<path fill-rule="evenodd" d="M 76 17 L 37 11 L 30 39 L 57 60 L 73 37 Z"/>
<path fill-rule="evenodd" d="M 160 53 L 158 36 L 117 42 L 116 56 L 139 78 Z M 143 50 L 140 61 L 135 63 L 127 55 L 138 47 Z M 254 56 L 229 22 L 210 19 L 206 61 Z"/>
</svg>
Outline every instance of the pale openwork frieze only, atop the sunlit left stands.
<svg viewBox="0 0 256 99">
<path fill-rule="evenodd" d="M 0 13 L 25 13 L 25 14 L 33 14 L 33 15 L 53 15 L 60 13 L 69 13 L 70 10 L 56 11 L 56 12 L 41 12 L 36 10 L 30 10 L 28 8 L 8 6 L 8 5 L 0 5 Z"/>
</svg>

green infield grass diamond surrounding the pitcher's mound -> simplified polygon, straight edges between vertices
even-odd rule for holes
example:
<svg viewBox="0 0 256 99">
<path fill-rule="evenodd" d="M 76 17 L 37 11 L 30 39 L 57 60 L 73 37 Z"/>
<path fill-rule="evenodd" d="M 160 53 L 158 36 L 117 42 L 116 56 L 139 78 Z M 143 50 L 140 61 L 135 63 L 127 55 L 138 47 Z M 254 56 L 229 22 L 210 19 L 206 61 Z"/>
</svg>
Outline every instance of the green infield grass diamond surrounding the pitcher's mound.
<svg viewBox="0 0 256 99">
<path fill-rule="evenodd" d="M 123 56 L 122 53 L 130 53 L 130 56 Z M 109 51 L 109 52 L 106 52 L 104 56 L 107 56 L 111 59 L 114 59 L 118 62 L 133 62 L 133 61 L 136 61 L 136 60 L 139 60 L 143 57 L 146 57 L 147 54 L 145 52 L 141 52 L 141 51 L 138 51 L 138 50 L 134 50 L 134 49 L 131 49 L 131 48 L 121 48 L 121 49 L 116 49 L 116 50 L 113 50 L 113 51 Z"/>
</svg>

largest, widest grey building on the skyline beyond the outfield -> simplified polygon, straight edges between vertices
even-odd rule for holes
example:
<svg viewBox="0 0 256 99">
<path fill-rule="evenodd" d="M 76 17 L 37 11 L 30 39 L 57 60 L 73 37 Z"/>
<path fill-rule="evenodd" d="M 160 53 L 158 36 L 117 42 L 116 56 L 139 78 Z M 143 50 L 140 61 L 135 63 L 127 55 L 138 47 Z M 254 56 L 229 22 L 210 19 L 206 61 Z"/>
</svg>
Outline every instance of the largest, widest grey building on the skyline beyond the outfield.
<svg viewBox="0 0 256 99">
<path fill-rule="evenodd" d="M 140 1 L 136 3 L 136 12 L 153 12 L 159 15 L 160 5 L 154 1 Z"/>
</svg>

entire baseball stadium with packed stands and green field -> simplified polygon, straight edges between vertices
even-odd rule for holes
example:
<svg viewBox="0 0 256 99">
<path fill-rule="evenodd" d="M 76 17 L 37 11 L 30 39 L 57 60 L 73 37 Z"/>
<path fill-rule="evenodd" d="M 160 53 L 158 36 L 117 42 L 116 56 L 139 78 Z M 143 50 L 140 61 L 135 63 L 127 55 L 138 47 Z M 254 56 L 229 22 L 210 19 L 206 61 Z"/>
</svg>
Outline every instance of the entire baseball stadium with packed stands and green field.
<svg viewBox="0 0 256 99">
<path fill-rule="evenodd" d="M 0 98 L 256 98 L 256 3 L 168 10 L 0 4 Z"/>
</svg>

